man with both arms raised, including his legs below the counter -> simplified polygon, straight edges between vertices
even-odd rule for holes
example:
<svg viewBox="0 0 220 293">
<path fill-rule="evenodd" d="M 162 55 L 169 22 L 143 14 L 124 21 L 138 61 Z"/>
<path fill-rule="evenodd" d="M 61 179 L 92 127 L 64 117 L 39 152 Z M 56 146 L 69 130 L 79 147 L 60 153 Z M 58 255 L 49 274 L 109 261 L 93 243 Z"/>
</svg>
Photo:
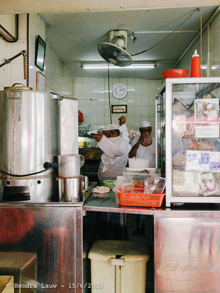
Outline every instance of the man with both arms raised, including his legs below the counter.
<svg viewBox="0 0 220 293">
<path fill-rule="evenodd" d="M 117 176 L 121 176 L 128 162 L 131 146 L 125 125 L 126 118 L 121 116 L 118 120 L 119 126 L 107 125 L 103 129 L 103 134 L 97 131 L 98 135 L 94 136 L 98 147 L 103 151 L 98 170 L 100 185 L 104 180 L 116 180 Z M 127 240 L 127 214 L 101 212 L 101 220 L 101 233 L 104 239 L 113 237 L 117 240 Z"/>
</svg>

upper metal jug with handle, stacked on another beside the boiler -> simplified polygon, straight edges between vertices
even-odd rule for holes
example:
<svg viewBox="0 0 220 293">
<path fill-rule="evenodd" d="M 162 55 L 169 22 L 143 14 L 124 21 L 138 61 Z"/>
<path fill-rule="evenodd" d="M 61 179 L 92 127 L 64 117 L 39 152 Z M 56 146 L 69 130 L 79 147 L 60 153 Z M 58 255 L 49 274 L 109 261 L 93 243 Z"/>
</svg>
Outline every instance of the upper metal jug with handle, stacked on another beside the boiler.
<svg viewBox="0 0 220 293">
<path fill-rule="evenodd" d="M 80 168 L 84 164 L 82 155 L 59 155 L 58 157 L 58 177 L 80 176 Z"/>
</svg>

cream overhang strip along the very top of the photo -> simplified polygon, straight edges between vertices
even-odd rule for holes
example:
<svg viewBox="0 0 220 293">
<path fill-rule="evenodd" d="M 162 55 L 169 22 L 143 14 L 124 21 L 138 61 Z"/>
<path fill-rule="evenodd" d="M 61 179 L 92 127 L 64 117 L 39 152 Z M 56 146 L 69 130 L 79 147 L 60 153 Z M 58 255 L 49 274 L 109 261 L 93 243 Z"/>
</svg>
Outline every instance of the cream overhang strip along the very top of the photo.
<svg viewBox="0 0 220 293">
<path fill-rule="evenodd" d="M 0 14 L 219 5 L 219 0 L 0 0 Z"/>
</svg>

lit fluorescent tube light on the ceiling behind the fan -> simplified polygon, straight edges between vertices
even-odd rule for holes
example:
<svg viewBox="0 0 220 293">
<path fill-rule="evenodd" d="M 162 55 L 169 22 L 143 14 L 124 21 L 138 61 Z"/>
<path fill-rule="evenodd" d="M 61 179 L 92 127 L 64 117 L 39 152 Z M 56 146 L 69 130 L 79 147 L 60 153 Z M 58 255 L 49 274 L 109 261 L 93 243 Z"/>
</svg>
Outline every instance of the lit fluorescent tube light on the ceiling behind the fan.
<svg viewBox="0 0 220 293">
<path fill-rule="evenodd" d="M 155 68 L 156 62 L 133 62 L 131 65 L 126 67 L 116 66 L 109 64 L 110 69 L 142 69 L 142 68 Z M 81 68 L 83 69 L 108 69 L 107 62 L 82 62 Z"/>
</svg>

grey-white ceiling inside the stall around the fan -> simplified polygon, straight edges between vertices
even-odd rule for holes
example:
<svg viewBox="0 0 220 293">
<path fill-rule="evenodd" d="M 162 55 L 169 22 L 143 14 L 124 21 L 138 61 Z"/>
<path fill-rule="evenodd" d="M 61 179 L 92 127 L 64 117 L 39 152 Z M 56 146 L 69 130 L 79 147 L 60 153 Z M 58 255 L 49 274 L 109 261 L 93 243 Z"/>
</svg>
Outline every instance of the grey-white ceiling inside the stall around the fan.
<svg viewBox="0 0 220 293">
<path fill-rule="evenodd" d="M 202 25 L 217 6 L 200 7 Z M 84 13 L 41 14 L 46 23 L 46 42 L 60 56 L 74 76 L 107 77 L 107 70 L 81 69 L 80 62 L 103 61 L 98 53 L 99 42 L 109 42 L 108 32 L 120 29 L 132 32 L 173 31 L 195 7 L 102 11 Z M 175 62 L 199 31 L 199 13 L 196 12 L 178 31 L 152 50 L 133 57 L 134 61 L 162 61 L 154 69 L 110 71 L 110 77 L 161 78 L 160 72 L 175 68 Z M 143 51 L 159 42 L 168 33 L 135 34 L 136 42 L 128 39 L 130 54 Z M 173 63 L 170 63 L 172 61 Z M 164 63 L 169 62 L 169 63 Z M 190 62 L 190 60 L 189 60 Z"/>
</svg>

